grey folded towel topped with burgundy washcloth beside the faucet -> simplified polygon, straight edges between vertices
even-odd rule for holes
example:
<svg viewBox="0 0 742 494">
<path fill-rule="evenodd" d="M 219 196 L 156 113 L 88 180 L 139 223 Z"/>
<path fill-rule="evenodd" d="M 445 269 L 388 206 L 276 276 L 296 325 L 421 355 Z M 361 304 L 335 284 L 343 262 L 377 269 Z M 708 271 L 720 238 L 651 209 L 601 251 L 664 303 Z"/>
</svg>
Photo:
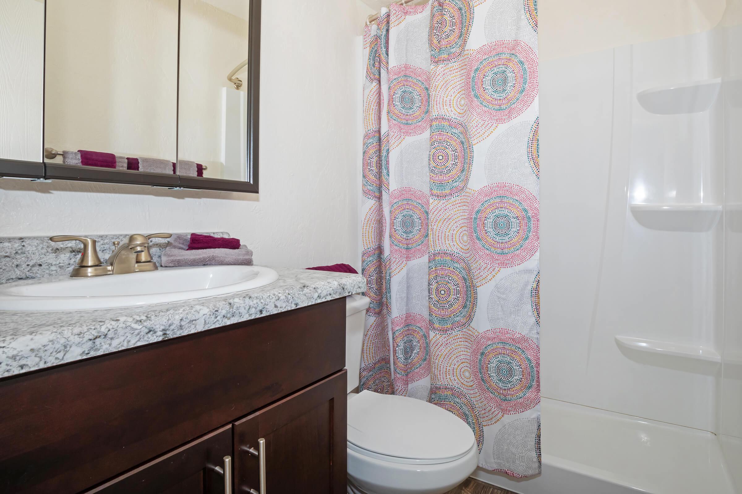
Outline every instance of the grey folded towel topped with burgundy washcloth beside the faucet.
<svg viewBox="0 0 742 494">
<path fill-rule="evenodd" d="M 237 247 L 234 247 L 235 243 Z M 207 247 L 214 245 L 219 247 Z M 162 253 L 163 267 L 220 265 L 252 266 L 252 250 L 246 245 L 240 245 L 238 238 L 217 238 L 191 233 L 172 236 Z"/>
</svg>

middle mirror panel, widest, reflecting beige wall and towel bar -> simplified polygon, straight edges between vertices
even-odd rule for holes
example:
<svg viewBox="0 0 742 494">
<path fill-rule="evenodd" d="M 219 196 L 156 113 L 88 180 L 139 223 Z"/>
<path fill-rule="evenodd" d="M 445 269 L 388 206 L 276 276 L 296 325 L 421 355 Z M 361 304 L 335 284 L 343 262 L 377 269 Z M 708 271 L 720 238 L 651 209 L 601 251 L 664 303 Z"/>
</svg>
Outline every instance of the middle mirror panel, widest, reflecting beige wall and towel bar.
<svg viewBox="0 0 742 494">
<path fill-rule="evenodd" d="M 47 0 L 46 161 L 174 173 L 178 0 Z"/>
</svg>

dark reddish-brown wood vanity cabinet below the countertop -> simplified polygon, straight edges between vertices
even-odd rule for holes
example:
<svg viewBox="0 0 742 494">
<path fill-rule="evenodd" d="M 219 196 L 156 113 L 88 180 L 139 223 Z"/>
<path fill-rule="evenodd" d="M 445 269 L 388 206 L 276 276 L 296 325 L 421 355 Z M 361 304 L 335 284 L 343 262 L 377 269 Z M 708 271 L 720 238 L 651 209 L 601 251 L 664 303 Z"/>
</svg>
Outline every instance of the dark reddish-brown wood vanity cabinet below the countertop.
<svg viewBox="0 0 742 494">
<path fill-rule="evenodd" d="M 344 361 L 340 298 L 4 378 L 0 493 L 260 492 L 260 438 L 267 493 L 344 493 Z"/>
</svg>

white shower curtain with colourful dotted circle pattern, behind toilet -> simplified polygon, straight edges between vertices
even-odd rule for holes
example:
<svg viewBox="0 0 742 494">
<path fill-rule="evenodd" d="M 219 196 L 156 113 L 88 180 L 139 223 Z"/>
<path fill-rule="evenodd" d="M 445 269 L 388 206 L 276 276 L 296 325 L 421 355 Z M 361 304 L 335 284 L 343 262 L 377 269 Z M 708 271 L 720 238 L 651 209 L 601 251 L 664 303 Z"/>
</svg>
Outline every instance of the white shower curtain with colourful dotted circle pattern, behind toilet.
<svg viewBox="0 0 742 494">
<path fill-rule="evenodd" d="M 457 415 L 514 477 L 541 470 L 537 19 L 431 0 L 364 33 L 360 388 Z"/>
</svg>

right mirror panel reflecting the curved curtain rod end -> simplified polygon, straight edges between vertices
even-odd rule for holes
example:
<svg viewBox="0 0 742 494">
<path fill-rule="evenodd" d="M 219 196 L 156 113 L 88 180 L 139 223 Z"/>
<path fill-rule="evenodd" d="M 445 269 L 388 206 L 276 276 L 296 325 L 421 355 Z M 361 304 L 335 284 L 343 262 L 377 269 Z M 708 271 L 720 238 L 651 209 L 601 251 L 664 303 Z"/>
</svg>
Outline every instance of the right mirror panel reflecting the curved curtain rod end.
<svg viewBox="0 0 742 494">
<path fill-rule="evenodd" d="M 180 4 L 179 170 L 246 181 L 247 0 Z M 236 69 L 236 70 L 235 70 Z M 228 81 L 227 76 L 232 80 Z"/>
</svg>

